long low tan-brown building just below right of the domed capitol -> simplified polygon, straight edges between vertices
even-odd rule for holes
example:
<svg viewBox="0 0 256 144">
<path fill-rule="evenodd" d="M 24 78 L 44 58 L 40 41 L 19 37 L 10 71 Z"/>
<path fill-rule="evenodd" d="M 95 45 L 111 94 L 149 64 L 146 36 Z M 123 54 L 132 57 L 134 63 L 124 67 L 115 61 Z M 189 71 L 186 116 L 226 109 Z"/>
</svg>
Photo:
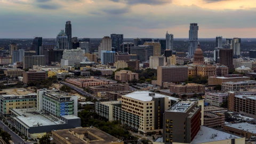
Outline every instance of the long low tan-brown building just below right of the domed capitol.
<svg viewBox="0 0 256 144">
<path fill-rule="evenodd" d="M 231 75 L 224 75 L 221 77 L 211 76 L 208 78 L 208 84 L 209 85 L 222 85 L 224 82 L 241 82 L 241 81 L 249 81 L 250 77 L 243 76 L 243 75 L 237 75 L 237 74 L 231 74 Z"/>
</svg>

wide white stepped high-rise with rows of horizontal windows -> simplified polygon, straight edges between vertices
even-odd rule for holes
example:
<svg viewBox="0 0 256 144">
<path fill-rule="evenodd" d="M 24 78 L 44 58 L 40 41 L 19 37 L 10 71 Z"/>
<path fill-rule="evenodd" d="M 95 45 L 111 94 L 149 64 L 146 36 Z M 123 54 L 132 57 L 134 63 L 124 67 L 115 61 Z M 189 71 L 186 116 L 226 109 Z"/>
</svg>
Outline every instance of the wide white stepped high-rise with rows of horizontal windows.
<svg viewBox="0 0 256 144">
<path fill-rule="evenodd" d="M 75 66 L 75 63 L 85 62 L 84 52 L 81 47 L 77 47 L 77 49 L 64 50 L 62 59 L 61 59 L 61 67 L 63 66 Z"/>
</svg>

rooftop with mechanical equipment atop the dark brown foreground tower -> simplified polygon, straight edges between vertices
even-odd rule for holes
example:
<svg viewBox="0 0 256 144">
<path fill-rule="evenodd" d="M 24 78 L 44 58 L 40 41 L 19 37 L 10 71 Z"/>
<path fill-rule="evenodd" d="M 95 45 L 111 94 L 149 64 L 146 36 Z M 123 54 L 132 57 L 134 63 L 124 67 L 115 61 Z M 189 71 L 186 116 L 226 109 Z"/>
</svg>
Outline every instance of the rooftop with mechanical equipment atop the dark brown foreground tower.
<svg viewBox="0 0 256 144">
<path fill-rule="evenodd" d="M 166 111 L 186 113 L 186 111 L 190 107 L 192 107 L 195 103 L 196 103 L 195 101 L 179 101 L 178 103 L 175 103 L 175 105 L 167 109 Z"/>
</svg>

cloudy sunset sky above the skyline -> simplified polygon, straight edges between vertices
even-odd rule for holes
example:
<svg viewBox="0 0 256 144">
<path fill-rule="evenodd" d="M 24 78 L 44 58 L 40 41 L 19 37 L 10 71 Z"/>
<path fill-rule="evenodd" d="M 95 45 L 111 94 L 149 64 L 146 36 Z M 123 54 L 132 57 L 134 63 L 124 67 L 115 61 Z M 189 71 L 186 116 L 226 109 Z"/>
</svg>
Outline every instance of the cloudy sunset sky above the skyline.
<svg viewBox="0 0 256 144">
<path fill-rule="evenodd" d="M 0 0 L 0 38 L 54 38 L 72 24 L 72 37 L 256 38 L 255 0 Z"/>
</svg>

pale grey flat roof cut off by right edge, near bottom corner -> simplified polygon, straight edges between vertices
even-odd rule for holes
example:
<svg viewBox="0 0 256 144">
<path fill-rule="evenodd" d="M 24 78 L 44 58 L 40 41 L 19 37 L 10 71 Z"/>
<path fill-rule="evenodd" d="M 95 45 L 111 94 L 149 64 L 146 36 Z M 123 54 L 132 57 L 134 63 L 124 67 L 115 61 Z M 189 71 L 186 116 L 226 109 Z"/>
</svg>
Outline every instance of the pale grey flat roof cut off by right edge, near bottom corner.
<svg viewBox="0 0 256 144">
<path fill-rule="evenodd" d="M 248 131 L 250 133 L 256 133 L 256 125 L 249 123 L 236 123 L 236 124 L 227 124 L 226 126 L 232 127 L 238 130 Z"/>
</svg>

